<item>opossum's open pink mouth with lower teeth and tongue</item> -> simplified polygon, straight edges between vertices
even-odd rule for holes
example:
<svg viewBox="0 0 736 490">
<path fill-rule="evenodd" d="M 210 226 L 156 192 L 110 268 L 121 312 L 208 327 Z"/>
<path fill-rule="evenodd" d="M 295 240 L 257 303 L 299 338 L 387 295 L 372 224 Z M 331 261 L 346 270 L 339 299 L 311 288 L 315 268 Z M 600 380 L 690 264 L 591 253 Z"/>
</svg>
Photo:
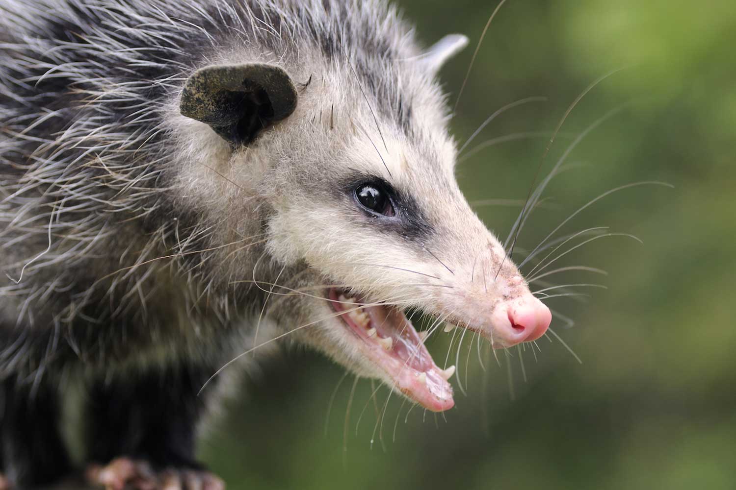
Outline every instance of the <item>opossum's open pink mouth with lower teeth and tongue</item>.
<svg viewBox="0 0 736 490">
<path fill-rule="evenodd" d="M 440 369 L 423 337 L 395 306 L 368 303 L 339 289 L 328 289 L 328 299 L 361 350 L 389 375 L 403 394 L 431 411 L 455 404 L 447 380 L 455 367 Z"/>
</svg>

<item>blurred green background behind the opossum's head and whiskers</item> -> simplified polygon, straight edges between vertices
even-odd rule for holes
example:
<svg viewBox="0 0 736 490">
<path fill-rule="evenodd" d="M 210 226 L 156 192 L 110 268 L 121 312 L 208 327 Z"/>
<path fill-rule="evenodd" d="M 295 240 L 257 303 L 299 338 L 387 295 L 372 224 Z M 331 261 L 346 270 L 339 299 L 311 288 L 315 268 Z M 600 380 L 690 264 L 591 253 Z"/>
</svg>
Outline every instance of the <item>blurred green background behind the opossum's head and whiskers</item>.
<svg viewBox="0 0 736 490">
<path fill-rule="evenodd" d="M 442 70 L 453 102 L 495 6 L 400 2 L 426 44 L 449 32 L 470 36 L 470 47 Z M 558 262 L 609 272 L 551 277 L 609 288 L 581 289 L 591 295 L 582 301 L 548 300 L 575 320 L 566 328 L 556 319 L 553 328 L 582 364 L 542 339 L 537 361 L 530 350 L 523 359 L 514 350 L 500 356 L 500 366 L 491 357 L 484 372 L 465 342 L 467 395 L 453 379 L 456 408 L 446 419 L 420 408 L 407 417 L 408 404 L 392 397 L 381 442 L 380 430 L 373 435 L 370 381 L 357 384 L 346 422 L 353 378 L 336 389 L 342 368 L 289 352 L 227 406 L 202 458 L 230 490 L 736 488 L 735 61 L 733 0 L 509 0 L 453 120 L 461 143 L 496 109 L 528 96 L 548 101 L 505 112 L 475 143 L 550 131 L 590 82 L 626 68 L 575 107 L 545 159 L 549 170 L 576 134 L 635 101 L 570 154 L 573 165 L 545 193 L 547 206 L 534 212 L 519 248 L 534 248 L 613 187 L 643 180 L 675 186 L 615 193 L 560 232 L 609 226 L 644 242 L 601 239 Z M 462 162 L 458 176 L 469 200 L 525 198 L 545 144 L 500 143 Z M 480 204 L 488 226 L 506 237 L 520 208 Z M 440 359 L 447 339 L 430 344 Z M 378 408 L 387 394 L 378 391 Z"/>
</svg>

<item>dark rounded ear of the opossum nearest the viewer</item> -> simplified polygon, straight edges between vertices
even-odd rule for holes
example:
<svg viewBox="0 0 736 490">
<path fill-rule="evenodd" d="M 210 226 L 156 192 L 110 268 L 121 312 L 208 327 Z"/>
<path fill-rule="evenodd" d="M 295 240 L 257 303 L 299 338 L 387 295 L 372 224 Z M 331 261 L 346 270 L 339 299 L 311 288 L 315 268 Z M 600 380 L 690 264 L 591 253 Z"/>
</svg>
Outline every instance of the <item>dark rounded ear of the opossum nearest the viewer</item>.
<svg viewBox="0 0 736 490">
<path fill-rule="evenodd" d="M 207 123 L 230 145 L 248 144 L 297 107 L 297 89 L 275 65 L 215 65 L 184 84 L 180 112 Z"/>
</svg>

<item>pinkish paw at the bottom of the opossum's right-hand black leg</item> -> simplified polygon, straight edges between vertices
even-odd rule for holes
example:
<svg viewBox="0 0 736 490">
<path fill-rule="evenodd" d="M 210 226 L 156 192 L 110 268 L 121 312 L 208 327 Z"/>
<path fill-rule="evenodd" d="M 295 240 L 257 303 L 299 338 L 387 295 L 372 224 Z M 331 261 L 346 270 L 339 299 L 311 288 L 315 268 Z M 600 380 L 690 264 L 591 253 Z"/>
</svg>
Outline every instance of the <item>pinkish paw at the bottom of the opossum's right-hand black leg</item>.
<svg viewBox="0 0 736 490">
<path fill-rule="evenodd" d="M 152 469 L 146 461 L 116 458 L 106 466 L 88 466 L 87 480 L 105 490 L 224 490 L 224 482 L 199 469 Z M 1 487 L 0 487 L 0 490 Z"/>
</svg>

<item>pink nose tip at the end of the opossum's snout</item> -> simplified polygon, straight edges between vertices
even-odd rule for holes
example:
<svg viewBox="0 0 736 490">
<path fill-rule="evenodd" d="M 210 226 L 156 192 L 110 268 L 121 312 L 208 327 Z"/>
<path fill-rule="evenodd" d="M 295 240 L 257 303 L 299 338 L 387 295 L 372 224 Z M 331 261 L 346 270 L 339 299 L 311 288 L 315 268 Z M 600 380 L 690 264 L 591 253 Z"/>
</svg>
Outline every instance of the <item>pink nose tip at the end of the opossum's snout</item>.
<svg viewBox="0 0 736 490">
<path fill-rule="evenodd" d="M 505 347 L 531 342 L 544 335 L 552 313 L 533 295 L 527 293 L 509 303 L 501 303 L 494 312 L 493 334 Z"/>
</svg>

